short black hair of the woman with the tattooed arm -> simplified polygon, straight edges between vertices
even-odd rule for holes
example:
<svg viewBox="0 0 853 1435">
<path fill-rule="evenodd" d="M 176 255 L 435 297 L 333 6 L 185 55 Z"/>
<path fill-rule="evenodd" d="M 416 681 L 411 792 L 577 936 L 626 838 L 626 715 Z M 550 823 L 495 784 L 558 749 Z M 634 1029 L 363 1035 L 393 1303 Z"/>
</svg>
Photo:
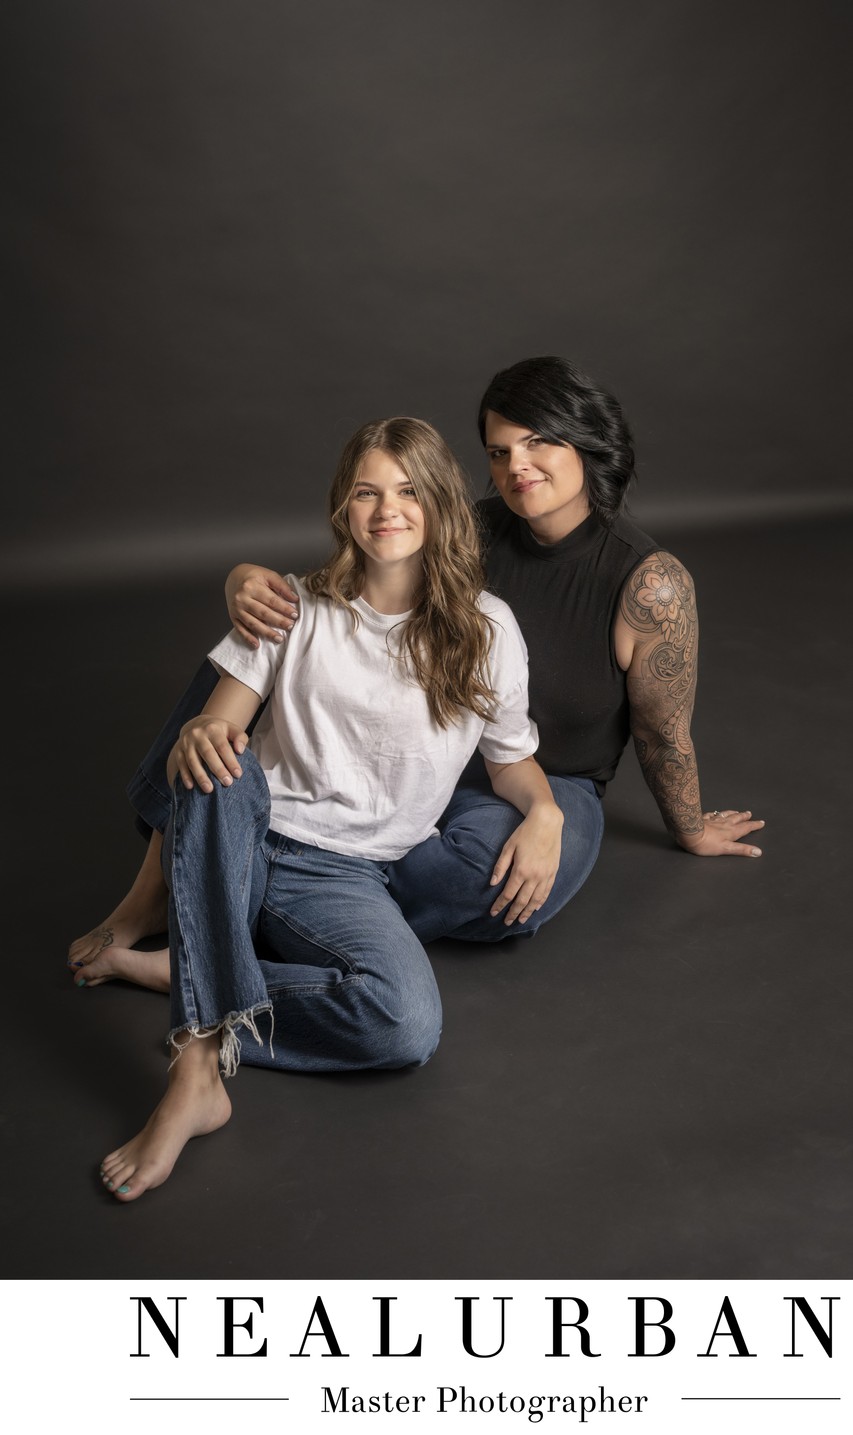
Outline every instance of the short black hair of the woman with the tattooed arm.
<svg viewBox="0 0 853 1435">
<path fill-rule="evenodd" d="M 533 429 L 547 443 L 570 443 L 583 464 L 590 508 L 606 522 L 616 518 L 633 478 L 633 446 L 612 393 L 567 359 L 546 354 L 495 373 L 480 403 L 483 443 L 490 410 Z"/>
</svg>

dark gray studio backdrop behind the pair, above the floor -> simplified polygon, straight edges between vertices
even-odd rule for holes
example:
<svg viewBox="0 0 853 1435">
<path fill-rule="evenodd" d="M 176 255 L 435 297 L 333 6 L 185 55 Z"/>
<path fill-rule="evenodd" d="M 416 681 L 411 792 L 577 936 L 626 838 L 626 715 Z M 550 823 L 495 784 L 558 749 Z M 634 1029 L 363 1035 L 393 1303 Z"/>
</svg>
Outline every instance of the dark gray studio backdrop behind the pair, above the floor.
<svg viewBox="0 0 853 1435">
<path fill-rule="evenodd" d="M 4 7 L 4 581 L 322 547 L 368 418 L 623 400 L 651 527 L 843 507 L 844 6 Z M 846 436 L 846 430 L 844 430 Z"/>
</svg>

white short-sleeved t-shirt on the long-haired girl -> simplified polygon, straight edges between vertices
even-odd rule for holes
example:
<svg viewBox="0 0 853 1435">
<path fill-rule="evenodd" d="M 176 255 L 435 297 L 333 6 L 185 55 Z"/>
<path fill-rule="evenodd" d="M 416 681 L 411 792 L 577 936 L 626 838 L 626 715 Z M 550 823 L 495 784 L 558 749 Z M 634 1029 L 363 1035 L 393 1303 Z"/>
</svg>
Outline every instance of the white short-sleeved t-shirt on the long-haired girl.
<svg viewBox="0 0 853 1435">
<path fill-rule="evenodd" d="M 284 643 L 248 647 L 234 631 L 208 654 L 271 700 L 251 736 L 271 796 L 270 827 L 312 847 L 395 861 L 431 837 L 475 748 L 518 762 L 539 745 L 527 716 L 527 649 L 510 608 L 491 593 L 480 607 L 494 626 L 490 683 L 495 720 L 464 712 L 439 728 L 426 695 L 399 659 L 408 614 L 376 613 L 362 598 L 353 631 L 346 608 L 299 593 L 299 621 Z"/>
</svg>

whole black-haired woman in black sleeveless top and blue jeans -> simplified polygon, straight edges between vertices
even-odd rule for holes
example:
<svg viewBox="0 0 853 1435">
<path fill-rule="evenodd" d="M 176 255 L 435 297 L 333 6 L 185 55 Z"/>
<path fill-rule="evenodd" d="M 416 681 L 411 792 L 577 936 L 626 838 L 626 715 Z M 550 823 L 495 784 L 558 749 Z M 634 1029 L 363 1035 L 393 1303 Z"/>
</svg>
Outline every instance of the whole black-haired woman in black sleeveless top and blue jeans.
<svg viewBox="0 0 853 1435">
<path fill-rule="evenodd" d="M 563 845 L 550 897 L 516 921 L 513 907 L 507 913 L 495 901 L 494 877 L 517 812 L 472 763 L 439 834 L 389 870 L 391 890 L 424 941 L 527 936 L 553 917 L 596 861 L 600 798 L 629 736 L 661 817 L 685 851 L 758 857 L 750 837 L 764 825 L 731 808 L 702 812 L 691 740 L 694 585 L 684 565 L 622 512 L 633 449 L 617 400 L 564 359 L 526 359 L 494 376 L 478 422 L 497 489 L 478 505 L 487 584 L 510 604 L 527 643 L 537 756 L 564 817 Z M 269 568 L 240 565 L 227 596 L 248 644 L 281 641 L 297 621 L 297 596 Z M 195 693 L 210 690 L 213 677 L 210 664 L 202 667 Z M 187 700 L 197 700 L 192 689 Z M 129 789 L 152 828 L 162 825 L 168 802 L 164 755 L 187 710 L 192 706 L 172 715 Z M 70 963 L 90 961 L 109 943 L 128 949 L 161 927 L 162 881 L 149 854 L 112 916 L 73 944 Z"/>
</svg>

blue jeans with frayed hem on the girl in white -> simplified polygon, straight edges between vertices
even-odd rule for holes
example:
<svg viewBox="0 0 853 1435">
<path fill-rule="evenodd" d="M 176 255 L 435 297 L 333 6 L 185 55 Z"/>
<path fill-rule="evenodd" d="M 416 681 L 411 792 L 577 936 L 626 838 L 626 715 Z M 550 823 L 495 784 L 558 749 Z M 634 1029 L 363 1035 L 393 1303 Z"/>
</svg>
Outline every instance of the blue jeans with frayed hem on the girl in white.
<svg viewBox="0 0 853 1435">
<path fill-rule="evenodd" d="M 171 1032 L 221 1032 L 223 1066 L 359 1071 L 429 1060 L 441 1000 L 386 864 L 269 831 L 251 752 L 230 788 L 177 784 L 164 839 Z"/>
</svg>

